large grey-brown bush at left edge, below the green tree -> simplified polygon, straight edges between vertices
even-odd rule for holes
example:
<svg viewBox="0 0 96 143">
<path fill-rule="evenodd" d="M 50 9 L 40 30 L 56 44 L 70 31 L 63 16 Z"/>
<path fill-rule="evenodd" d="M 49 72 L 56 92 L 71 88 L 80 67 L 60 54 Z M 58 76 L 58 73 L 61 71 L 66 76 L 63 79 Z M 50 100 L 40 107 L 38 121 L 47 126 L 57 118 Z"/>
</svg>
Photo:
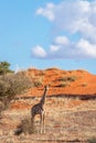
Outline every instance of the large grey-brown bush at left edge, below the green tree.
<svg viewBox="0 0 96 143">
<path fill-rule="evenodd" d="M 0 76 L 0 100 L 3 106 L 3 108 L 0 106 L 0 109 L 7 108 L 15 95 L 21 94 L 31 86 L 31 80 L 22 72 Z"/>
</svg>

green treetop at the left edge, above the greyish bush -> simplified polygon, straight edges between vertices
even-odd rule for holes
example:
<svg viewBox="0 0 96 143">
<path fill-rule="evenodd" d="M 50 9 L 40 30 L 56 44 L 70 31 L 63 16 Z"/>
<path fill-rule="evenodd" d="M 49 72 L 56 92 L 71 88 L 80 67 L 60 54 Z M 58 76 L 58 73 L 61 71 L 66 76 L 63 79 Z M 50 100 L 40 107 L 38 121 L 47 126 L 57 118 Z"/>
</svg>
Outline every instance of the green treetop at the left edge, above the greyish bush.
<svg viewBox="0 0 96 143">
<path fill-rule="evenodd" d="M 11 73 L 12 70 L 9 67 L 10 64 L 8 62 L 0 62 L 0 75 Z"/>
</svg>

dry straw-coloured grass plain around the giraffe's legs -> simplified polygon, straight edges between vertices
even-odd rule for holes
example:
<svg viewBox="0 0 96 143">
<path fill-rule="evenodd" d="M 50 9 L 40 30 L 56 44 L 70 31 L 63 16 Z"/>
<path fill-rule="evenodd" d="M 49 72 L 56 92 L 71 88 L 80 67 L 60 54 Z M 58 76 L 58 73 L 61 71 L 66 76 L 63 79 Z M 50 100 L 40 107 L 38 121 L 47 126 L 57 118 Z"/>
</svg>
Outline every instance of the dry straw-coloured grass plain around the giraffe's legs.
<svg viewBox="0 0 96 143">
<path fill-rule="evenodd" d="M 21 100 L 31 108 L 40 99 Z M 24 107 L 24 106 L 23 106 Z M 1 143 L 36 143 L 39 142 L 85 142 L 96 136 L 96 100 L 82 101 L 67 98 L 47 98 L 45 103 L 45 134 L 39 133 L 39 117 L 35 118 L 35 132 L 31 129 L 30 108 L 17 109 L 15 106 L 3 112 L 0 124 Z M 23 125 L 23 133 L 14 135 L 19 124 Z M 32 132 L 30 132 L 32 131 Z M 32 133 L 32 134 L 30 134 Z"/>
</svg>

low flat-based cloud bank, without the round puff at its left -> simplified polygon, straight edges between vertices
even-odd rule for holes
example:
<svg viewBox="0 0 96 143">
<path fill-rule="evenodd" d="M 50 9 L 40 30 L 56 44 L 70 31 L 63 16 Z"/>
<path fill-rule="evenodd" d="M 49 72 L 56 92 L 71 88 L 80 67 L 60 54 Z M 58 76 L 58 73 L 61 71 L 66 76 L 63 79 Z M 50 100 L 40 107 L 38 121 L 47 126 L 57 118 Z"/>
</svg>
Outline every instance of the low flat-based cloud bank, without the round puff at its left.
<svg viewBox="0 0 96 143">
<path fill-rule="evenodd" d="M 77 43 L 71 43 L 71 41 L 67 44 L 54 43 L 54 45 L 50 46 L 47 56 L 50 58 L 96 58 L 96 44 L 90 44 L 83 38 Z"/>
</svg>

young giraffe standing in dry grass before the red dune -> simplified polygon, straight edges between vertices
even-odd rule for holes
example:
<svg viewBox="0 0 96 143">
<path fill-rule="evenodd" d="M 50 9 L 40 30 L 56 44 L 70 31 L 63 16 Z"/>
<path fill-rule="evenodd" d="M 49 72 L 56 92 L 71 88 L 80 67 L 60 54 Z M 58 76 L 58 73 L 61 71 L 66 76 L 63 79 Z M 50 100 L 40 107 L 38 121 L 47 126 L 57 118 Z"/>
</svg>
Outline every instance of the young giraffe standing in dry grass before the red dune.
<svg viewBox="0 0 96 143">
<path fill-rule="evenodd" d="M 49 86 L 45 86 L 44 87 L 44 92 L 43 92 L 43 96 L 40 100 L 39 103 L 34 105 L 32 108 L 31 108 L 31 121 L 32 121 L 32 127 L 34 125 L 34 117 L 36 114 L 40 114 L 40 133 L 44 132 L 45 133 L 45 124 L 44 124 L 44 109 L 43 109 L 43 106 L 45 103 L 45 97 L 46 97 L 46 91 L 49 89 Z"/>
</svg>

